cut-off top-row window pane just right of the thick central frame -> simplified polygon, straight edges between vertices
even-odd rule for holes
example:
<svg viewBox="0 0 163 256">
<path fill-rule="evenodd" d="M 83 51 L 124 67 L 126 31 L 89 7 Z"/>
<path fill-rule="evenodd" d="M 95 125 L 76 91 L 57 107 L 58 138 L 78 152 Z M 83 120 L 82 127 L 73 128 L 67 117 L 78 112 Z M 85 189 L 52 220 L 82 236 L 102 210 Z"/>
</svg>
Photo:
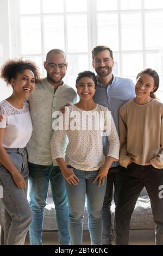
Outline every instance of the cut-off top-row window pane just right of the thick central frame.
<svg viewBox="0 0 163 256">
<path fill-rule="evenodd" d="M 118 9 L 117 0 L 96 0 L 96 1 L 97 1 L 97 11 Z"/>
</svg>

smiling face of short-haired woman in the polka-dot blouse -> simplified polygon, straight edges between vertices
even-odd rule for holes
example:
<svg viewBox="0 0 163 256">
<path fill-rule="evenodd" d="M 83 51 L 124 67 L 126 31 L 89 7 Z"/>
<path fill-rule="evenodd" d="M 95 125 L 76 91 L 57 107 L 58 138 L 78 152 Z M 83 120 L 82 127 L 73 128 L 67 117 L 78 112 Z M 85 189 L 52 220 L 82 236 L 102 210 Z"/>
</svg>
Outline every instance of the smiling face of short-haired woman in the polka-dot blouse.
<svg viewBox="0 0 163 256">
<path fill-rule="evenodd" d="M 83 77 L 77 83 L 77 93 L 80 99 L 90 100 L 95 94 L 95 82 L 90 77 Z"/>
</svg>

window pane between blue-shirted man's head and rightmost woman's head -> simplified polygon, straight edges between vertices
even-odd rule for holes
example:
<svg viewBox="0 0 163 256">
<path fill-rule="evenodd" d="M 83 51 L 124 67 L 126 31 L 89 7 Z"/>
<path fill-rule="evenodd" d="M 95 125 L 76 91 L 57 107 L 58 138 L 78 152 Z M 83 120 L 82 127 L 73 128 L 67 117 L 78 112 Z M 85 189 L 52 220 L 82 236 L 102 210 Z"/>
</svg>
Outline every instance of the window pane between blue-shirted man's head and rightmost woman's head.
<svg viewBox="0 0 163 256">
<path fill-rule="evenodd" d="M 123 54 L 122 61 L 123 77 L 136 77 L 137 74 L 143 69 L 141 53 Z"/>
</svg>

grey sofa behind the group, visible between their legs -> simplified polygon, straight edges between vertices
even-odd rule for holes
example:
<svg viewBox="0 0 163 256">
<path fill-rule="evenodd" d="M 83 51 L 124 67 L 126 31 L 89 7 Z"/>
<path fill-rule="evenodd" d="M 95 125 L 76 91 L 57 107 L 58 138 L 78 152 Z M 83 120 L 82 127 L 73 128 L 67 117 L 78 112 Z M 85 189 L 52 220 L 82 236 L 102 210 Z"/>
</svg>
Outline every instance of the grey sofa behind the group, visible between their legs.
<svg viewBox="0 0 163 256">
<path fill-rule="evenodd" d="M 114 213 L 115 213 L 115 204 L 114 200 L 111 205 L 111 214 L 112 214 L 112 229 L 114 230 Z M 3 229 L 3 217 L 4 209 L 2 202 L 0 202 L 0 225 Z M 151 210 L 150 200 L 146 191 L 146 188 L 140 193 L 140 197 L 137 200 L 133 215 L 130 222 L 131 230 L 147 230 L 155 229 L 155 223 L 153 222 L 153 215 Z M 83 229 L 88 230 L 87 228 L 87 212 L 85 207 L 84 217 L 83 217 Z M 52 199 L 51 187 L 48 189 L 47 205 L 44 211 L 44 221 L 43 221 L 43 231 L 57 231 L 57 222 L 55 219 L 55 209 Z M 2 243 L 3 243 L 3 233 L 2 233 Z"/>
</svg>

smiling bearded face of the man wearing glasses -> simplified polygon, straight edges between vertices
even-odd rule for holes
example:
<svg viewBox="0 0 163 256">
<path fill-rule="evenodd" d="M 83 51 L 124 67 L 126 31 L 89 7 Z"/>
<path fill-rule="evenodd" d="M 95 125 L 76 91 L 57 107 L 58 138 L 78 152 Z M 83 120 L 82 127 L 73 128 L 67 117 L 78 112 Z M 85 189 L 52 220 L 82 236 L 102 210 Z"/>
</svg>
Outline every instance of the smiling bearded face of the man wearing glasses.
<svg viewBox="0 0 163 256">
<path fill-rule="evenodd" d="M 63 67 L 60 68 L 58 65 L 54 65 L 54 63 L 66 65 L 63 65 Z M 43 65 L 47 71 L 48 82 L 60 85 L 62 83 L 62 78 L 64 78 L 67 70 L 67 62 L 64 54 L 55 52 L 50 53 Z"/>
</svg>

